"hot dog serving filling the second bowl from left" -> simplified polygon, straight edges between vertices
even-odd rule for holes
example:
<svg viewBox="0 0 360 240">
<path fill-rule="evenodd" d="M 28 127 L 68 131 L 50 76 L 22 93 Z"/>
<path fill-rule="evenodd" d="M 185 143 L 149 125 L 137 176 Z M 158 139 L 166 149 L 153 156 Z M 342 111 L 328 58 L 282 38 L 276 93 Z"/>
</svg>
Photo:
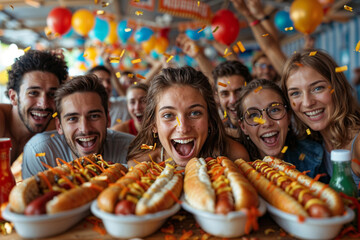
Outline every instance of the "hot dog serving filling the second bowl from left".
<svg viewBox="0 0 360 240">
<path fill-rule="evenodd" d="M 170 208 L 179 198 L 183 177 L 165 163 L 141 162 L 97 198 L 100 209 L 115 214 L 144 215 Z"/>
</svg>

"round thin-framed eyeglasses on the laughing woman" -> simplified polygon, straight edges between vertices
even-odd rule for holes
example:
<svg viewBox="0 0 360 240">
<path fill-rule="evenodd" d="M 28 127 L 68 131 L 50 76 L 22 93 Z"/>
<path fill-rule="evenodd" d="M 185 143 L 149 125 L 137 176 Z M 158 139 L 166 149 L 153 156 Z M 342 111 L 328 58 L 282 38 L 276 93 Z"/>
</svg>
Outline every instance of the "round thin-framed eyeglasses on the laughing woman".
<svg viewBox="0 0 360 240">
<path fill-rule="evenodd" d="M 259 125 L 258 119 L 263 117 L 263 111 L 265 111 L 272 120 L 281 120 L 286 114 L 286 108 L 287 106 L 282 103 L 272 103 L 264 109 L 249 108 L 240 120 L 245 120 L 245 122 L 250 126 L 257 126 Z"/>
</svg>

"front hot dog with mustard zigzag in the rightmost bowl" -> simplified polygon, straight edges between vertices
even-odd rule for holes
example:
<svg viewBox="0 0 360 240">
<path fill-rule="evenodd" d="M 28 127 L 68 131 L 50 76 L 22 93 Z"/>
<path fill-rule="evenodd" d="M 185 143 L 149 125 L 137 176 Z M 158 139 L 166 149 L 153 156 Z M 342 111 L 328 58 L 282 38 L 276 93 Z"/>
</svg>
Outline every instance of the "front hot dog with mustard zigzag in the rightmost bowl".
<svg viewBox="0 0 360 240">
<path fill-rule="evenodd" d="M 244 172 L 260 195 L 276 208 L 303 217 L 326 218 L 333 216 L 330 207 L 311 189 L 284 172 L 256 160 L 247 163 L 242 159 L 235 164 Z"/>
</svg>

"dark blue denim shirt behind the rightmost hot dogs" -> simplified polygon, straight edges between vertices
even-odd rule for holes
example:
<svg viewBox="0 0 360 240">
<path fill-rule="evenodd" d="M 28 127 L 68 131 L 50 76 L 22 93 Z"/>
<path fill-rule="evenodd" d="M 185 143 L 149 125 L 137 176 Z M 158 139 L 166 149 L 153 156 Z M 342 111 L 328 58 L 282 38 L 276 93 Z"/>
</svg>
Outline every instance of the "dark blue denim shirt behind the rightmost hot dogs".
<svg viewBox="0 0 360 240">
<path fill-rule="evenodd" d="M 299 159 L 301 154 L 305 154 L 303 160 Z M 314 178 L 317 174 L 326 173 L 323 157 L 324 149 L 320 143 L 304 139 L 297 140 L 296 145 L 285 152 L 284 161 L 295 165 L 300 172 L 310 170 L 306 175 Z M 330 177 L 322 176 L 319 181 L 329 183 Z"/>
</svg>

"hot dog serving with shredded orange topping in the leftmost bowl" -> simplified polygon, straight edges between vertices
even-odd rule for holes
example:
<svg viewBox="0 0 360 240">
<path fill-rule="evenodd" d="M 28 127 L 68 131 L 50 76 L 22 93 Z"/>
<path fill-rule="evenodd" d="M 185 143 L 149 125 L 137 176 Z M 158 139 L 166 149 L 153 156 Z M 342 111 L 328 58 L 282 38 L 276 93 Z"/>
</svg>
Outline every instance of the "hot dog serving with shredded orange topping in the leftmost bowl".
<svg viewBox="0 0 360 240">
<path fill-rule="evenodd" d="M 64 162 L 64 161 L 63 161 Z M 92 200 L 127 169 L 101 155 L 76 159 L 25 179 L 9 196 L 10 209 L 26 215 L 53 214 L 80 207 Z"/>
</svg>

